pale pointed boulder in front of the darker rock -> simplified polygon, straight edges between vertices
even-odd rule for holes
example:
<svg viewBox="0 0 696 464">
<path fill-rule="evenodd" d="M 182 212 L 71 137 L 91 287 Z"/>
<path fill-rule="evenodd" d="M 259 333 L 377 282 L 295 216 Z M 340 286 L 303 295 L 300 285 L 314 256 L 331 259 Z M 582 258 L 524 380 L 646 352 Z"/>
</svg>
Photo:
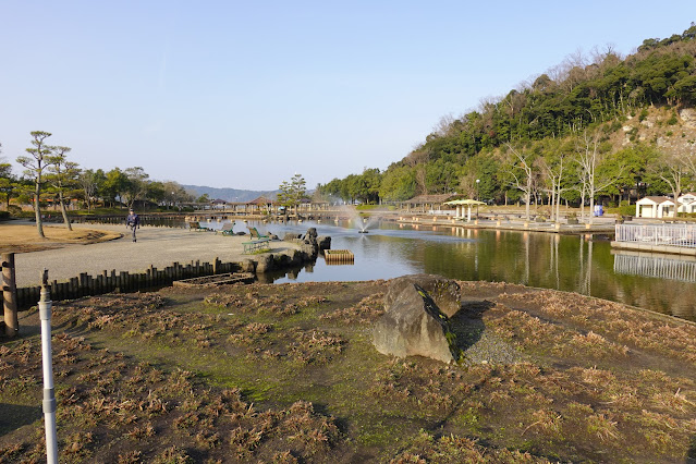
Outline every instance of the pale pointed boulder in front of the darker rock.
<svg viewBox="0 0 696 464">
<path fill-rule="evenodd" d="M 375 326 L 373 343 L 378 352 L 398 357 L 419 355 L 444 363 L 460 357 L 448 317 L 415 283 L 404 284 L 393 297 Z"/>
</svg>

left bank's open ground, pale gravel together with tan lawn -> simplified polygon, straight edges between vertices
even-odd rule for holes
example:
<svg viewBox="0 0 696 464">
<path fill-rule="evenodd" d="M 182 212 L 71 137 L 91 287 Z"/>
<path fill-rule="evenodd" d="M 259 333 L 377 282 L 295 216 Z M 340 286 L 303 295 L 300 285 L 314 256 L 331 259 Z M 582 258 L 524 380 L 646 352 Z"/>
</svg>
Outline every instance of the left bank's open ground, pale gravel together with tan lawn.
<svg viewBox="0 0 696 464">
<path fill-rule="evenodd" d="M 7 244 L 14 237 L 12 240 L 17 241 L 19 245 L 15 252 L 32 249 L 29 245 L 42 246 L 42 249 L 39 248 L 41 251 L 15 255 L 17 286 L 40 284 L 44 268 L 48 269 L 49 280 L 60 282 L 77 277 L 81 272 L 96 276 L 102 270 L 142 271 L 150 265 L 161 269 L 172 262 L 212 262 L 216 257 L 222 261 L 235 262 L 248 257 L 243 254 L 242 245 L 249 240 L 248 235 L 224 236 L 186 229 L 142 227 L 137 231 L 137 242 L 133 243 L 125 225 L 73 224 L 73 228 L 75 236 L 65 236 L 66 230 L 63 232 L 53 230 L 58 228 L 47 228 L 49 241 L 42 242 L 38 240 L 33 224 L 0 225 L 0 243 Z M 95 232 L 96 228 L 98 232 Z M 106 240 L 107 236 L 112 240 L 95 243 L 97 237 Z M 22 240 L 26 242 L 23 243 Z M 271 242 L 271 252 L 294 246 L 288 242 Z"/>
</svg>

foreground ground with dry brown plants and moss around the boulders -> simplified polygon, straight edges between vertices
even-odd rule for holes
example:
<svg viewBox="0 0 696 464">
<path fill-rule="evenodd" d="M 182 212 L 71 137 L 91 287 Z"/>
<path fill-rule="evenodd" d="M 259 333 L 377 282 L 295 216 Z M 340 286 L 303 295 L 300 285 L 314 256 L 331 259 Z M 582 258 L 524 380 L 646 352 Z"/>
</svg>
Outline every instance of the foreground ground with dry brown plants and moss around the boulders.
<svg viewBox="0 0 696 464">
<path fill-rule="evenodd" d="M 389 282 L 56 304 L 63 462 L 693 462 L 696 325 L 460 282 L 443 364 L 371 344 Z M 0 338 L 0 462 L 45 461 L 36 309 Z"/>
</svg>

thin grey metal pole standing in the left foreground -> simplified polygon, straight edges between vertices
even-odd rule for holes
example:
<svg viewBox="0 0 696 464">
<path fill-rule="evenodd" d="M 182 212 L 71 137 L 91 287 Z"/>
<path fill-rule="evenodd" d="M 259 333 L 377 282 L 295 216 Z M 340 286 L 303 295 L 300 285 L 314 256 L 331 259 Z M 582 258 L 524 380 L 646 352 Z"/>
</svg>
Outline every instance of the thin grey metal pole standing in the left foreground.
<svg viewBox="0 0 696 464">
<path fill-rule="evenodd" d="M 44 423 L 46 424 L 46 462 L 58 464 L 58 440 L 56 439 L 56 392 L 53 390 L 53 361 L 51 354 L 51 293 L 48 286 L 48 269 L 41 276 L 41 357 L 44 361 Z"/>
</svg>

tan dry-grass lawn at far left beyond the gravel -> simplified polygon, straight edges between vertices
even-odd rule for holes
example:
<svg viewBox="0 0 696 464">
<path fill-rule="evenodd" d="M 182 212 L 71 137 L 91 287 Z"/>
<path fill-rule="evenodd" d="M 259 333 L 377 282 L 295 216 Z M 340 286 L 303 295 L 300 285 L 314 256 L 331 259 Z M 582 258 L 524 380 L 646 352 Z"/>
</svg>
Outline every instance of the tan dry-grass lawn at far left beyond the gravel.
<svg viewBox="0 0 696 464">
<path fill-rule="evenodd" d="M 119 239 L 122 234 L 96 229 L 68 230 L 65 225 L 44 224 L 44 235 L 38 235 L 36 225 L 0 222 L 0 253 L 40 252 L 59 248 L 66 244 L 90 244 Z"/>
</svg>

